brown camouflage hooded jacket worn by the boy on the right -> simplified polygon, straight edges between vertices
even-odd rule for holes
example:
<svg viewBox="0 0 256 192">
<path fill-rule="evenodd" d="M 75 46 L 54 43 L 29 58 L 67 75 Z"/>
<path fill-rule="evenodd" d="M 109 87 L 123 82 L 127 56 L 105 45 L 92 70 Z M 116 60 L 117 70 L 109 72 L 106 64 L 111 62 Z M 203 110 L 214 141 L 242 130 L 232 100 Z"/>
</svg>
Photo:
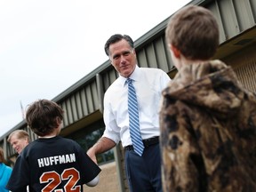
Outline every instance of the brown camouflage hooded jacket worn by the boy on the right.
<svg viewBox="0 0 256 192">
<path fill-rule="evenodd" d="M 160 129 L 165 192 L 256 191 L 256 95 L 220 60 L 180 68 Z"/>
</svg>

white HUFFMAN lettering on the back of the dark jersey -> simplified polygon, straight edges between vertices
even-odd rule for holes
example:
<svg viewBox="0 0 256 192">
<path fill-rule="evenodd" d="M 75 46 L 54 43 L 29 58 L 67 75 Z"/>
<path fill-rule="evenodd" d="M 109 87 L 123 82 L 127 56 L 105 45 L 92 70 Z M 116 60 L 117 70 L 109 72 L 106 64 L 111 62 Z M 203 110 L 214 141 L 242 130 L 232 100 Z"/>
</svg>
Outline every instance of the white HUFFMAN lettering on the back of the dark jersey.
<svg viewBox="0 0 256 192">
<path fill-rule="evenodd" d="M 62 156 L 48 156 L 44 158 L 37 159 L 39 167 L 54 165 L 54 164 L 68 164 L 76 162 L 75 154 L 67 154 Z"/>
</svg>

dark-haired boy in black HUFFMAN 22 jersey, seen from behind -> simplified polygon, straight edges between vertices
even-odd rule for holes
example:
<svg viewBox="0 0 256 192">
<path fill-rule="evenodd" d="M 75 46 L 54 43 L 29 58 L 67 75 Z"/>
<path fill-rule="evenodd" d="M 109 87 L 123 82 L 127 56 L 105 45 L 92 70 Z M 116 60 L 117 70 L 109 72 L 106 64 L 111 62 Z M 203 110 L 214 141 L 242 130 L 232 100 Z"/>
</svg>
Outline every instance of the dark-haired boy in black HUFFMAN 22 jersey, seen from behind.
<svg viewBox="0 0 256 192">
<path fill-rule="evenodd" d="M 83 191 L 96 186 L 100 168 L 76 141 L 59 135 L 64 111 L 51 100 L 37 100 L 27 110 L 29 128 L 38 139 L 24 148 L 7 188 L 12 192 Z"/>
</svg>

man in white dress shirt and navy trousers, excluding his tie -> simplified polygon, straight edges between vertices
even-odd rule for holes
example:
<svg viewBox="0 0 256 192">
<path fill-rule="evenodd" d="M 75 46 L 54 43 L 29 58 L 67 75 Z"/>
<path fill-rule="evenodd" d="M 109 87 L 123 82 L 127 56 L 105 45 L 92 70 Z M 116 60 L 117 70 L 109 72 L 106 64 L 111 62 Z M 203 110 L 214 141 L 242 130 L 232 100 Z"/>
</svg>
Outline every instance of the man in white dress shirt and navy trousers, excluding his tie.
<svg viewBox="0 0 256 192">
<path fill-rule="evenodd" d="M 105 92 L 105 132 L 87 154 L 97 163 L 97 154 L 114 148 L 121 141 L 125 150 L 125 171 L 130 190 L 162 192 L 158 109 L 162 90 L 171 79 L 159 68 L 138 67 L 130 36 L 110 36 L 105 44 L 105 52 L 119 77 Z M 132 79 L 138 100 L 140 133 L 144 144 L 142 156 L 132 146 L 126 83 L 128 77 Z"/>
</svg>

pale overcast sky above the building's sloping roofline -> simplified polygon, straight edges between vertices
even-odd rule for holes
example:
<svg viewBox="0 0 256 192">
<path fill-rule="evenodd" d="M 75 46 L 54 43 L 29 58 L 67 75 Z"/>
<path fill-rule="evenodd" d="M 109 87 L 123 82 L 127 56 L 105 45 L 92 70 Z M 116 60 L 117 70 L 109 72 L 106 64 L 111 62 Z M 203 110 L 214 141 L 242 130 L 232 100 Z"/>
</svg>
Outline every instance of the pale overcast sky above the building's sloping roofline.
<svg viewBox="0 0 256 192">
<path fill-rule="evenodd" d="M 190 0 L 0 0 L 0 136 L 22 110 L 52 100 L 108 60 L 120 33 L 136 41 Z"/>
</svg>

